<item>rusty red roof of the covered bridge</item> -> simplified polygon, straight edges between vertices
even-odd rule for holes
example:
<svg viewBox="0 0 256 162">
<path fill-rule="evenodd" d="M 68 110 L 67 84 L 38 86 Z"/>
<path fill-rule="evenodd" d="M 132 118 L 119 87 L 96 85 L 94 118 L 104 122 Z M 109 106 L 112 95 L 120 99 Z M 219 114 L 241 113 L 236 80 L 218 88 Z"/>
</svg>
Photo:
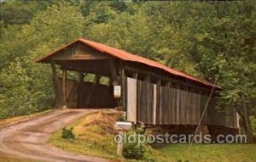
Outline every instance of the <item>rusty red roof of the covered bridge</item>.
<svg viewBox="0 0 256 162">
<path fill-rule="evenodd" d="M 143 58 L 142 56 L 131 54 L 131 53 L 128 53 L 128 52 L 126 52 L 124 50 L 121 50 L 121 49 L 117 49 L 117 48 L 114 48 L 114 47 L 109 47 L 109 46 L 104 45 L 104 44 L 99 43 L 99 42 L 93 42 L 93 41 L 90 41 L 90 40 L 87 40 L 87 39 L 84 39 L 84 38 L 79 38 L 79 39 L 75 40 L 74 42 L 83 42 L 84 44 L 86 44 L 90 47 L 93 47 L 96 50 L 101 51 L 102 53 L 107 53 L 107 54 L 109 54 L 109 55 L 111 55 L 115 58 L 118 58 L 118 59 L 122 59 L 122 60 L 125 60 L 125 61 L 131 61 L 131 62 L 137 62 L 137 63 L 141 63 L 141 64 L 147 64 L 151 67 L 158 68 L 160 70 L 165 70 L 166 72 L 168 72 L 172 75 L 181 76 L 184 79 L 189 79 L 190 81 L 198 82 L 198 83 L 200 83 L 202 85 L 205 85 L 207 87 L 216 87 L 217 89 L 222 89 L 221 87 L 214 86 L 210 82 L 204 81 L 204 80 L 202 80 L 198 77 L 188 75 L 188 74 L 186 74 L 184 72 L 181 72 L 181 71 L 178 71 L 178 70 L 173 70 L 172 68 L 169 68 L 166 65 L 160 64 L 160 63 L 155 62 L 151 59 L 146 59 L 146 58 Z M 39 62 L 44 62 L 45 59 L 48 59 L 50 56 L 52 56 L 55 53 L 61 51 L 61 49 L 70 46 L 74 42 L 71 42 L 71 43 L 67 44 L 64 47 L 60 47 L 60 48 L 56 49 L 53 53 L 49 53 L 48 55 L 39 59 L 37 62 L 38 63 Z"/>
</svg>

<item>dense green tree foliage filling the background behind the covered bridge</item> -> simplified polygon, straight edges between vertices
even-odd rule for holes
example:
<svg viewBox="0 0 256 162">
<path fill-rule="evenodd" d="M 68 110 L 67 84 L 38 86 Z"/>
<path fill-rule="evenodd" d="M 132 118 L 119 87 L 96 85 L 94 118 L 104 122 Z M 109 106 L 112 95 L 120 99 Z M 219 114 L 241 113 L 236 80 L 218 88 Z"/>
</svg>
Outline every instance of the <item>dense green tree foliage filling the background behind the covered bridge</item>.
<svg viewBox="0 0 256 162">
<path fill-rule="evenodd" d="M 52 108 L 49 66 L 35 60 L 74 38 L 123 48 L 218 85 L 250 133 L 256 109 L 252 2 L 1 1 L 0 119 Z"/>
</svg>

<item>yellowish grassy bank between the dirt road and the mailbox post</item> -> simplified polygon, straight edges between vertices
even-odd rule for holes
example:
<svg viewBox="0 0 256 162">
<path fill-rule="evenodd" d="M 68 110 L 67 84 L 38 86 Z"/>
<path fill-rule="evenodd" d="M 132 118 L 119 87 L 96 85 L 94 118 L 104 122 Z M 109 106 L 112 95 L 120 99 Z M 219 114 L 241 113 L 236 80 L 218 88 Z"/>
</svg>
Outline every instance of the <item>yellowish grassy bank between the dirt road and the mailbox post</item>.
<svg viewBox="0 0 256 162">
<path fill-rule="evenodd" d="M 83 119 L 73 123 L 72 126 L 68 126 L 73 127 L 75 139 L 62 139 L 61 131 L 57 131 L 49 139 L 49 142 L 57 148 L 75 154 L 102 157 L 114 161 L 129 161 L 116 156 L 117 146 L 113 142 L 113 135 L 117 133 L 114 129 L 114 123 L 119 115 L 119 113 L 111 111 L 86 115 Z M 148 148 L 146 154 L 148 159 L 158 157 L 159 161 L 164 160 L 164 157 L 160 157 L 160 154 L 151 148 Z"/>
</svg>

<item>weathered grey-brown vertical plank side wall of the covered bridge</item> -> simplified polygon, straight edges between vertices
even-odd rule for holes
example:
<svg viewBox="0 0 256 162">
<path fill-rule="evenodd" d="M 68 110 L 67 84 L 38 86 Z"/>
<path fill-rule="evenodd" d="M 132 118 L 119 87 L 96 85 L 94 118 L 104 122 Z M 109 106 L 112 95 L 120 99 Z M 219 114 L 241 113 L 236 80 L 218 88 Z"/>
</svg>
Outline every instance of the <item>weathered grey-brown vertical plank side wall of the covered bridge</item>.
<svg viewBox="0 0 256 162">
<path fill-rule="evenodd" d="M 132 94 L 127 78 L 127 112 L 137 109 L 137 122 L 152 125 L 197 125 L 207 103 L 207 95 L 187 88 L 160 86 L 137 80 L 137 94 Z M 137 100 L 135 103 L 135 96 Z M 216 98 L 211 98 L 202 120 L 203 125 L 224 126 L 224 111 L 214 109 Z M 133 106 L 131 106 L 133 105 Z M 132 110 L 129 110 L 132 109 Z M 133 112 L 133 114 L 135 114 Z M 131 119 L 132 117 L 129 117 Z M 134 120 L 134 118 L 132 118 Z"/>
</svg>

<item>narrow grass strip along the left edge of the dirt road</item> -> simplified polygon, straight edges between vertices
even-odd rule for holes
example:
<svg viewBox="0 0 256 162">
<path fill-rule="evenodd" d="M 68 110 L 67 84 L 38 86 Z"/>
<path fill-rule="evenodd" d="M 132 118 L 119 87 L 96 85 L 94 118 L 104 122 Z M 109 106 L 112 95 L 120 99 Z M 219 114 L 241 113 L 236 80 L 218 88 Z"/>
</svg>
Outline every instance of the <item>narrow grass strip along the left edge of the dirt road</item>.
<svg viewBox="0 0 256 162">
<path fill-rule="evenodd" d="M 13 118 L 9 118 L 9 119 L 4 119 L 4 120 L 0 120 L 0 126 L 6 126 L 6 125 L 10 125 L 10 124 L 15 124 L 17 122 L 23 121 L 23 120 L 30 120 L 33 117 L 36 117 L 38 115 L 44 115 L 47 114 L 49 112 L 53 111 L 53 109 L 48 109 L 39 113 L 35 113 L 32 115 L 22 115 L 22 116 L 16 116 Z"/>
</svg>

